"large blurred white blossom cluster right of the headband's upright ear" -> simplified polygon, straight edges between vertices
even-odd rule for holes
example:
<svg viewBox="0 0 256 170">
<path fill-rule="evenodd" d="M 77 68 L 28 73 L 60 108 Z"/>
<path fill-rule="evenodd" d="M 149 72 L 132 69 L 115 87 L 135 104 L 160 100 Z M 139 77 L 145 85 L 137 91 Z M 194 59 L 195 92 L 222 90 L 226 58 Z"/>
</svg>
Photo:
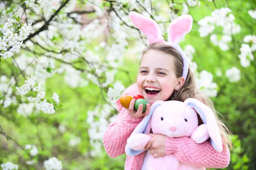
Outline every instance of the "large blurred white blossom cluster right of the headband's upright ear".
<svg viewBox="0 0 256 170">
<path fill-rule="evenodd" d="M 235 17 L 230 14 L 229 8 L 220 8 L 212 11 L 211 16 L 204 17 L 198 21 L 199 33 L 201 37 L 206 37 L 215 30 L 215 26 L 223 28 L 223 34 L 232 35 L 239 33 L 241 27 L 234 23 Z"/>
</svg>

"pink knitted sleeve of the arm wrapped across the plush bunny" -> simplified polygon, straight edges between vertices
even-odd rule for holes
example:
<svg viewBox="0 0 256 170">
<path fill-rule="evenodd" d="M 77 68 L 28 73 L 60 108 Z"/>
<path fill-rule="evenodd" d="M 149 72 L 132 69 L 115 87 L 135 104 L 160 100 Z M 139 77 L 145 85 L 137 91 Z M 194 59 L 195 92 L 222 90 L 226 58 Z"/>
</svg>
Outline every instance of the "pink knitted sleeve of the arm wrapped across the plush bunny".
<svg viewBox="0 0 256 170">
<path fill-rule="evenodd" d="M 223 142 L 222 142 L 223 143 Z M 224 148 L 224 144 L 223 144 Z M 230 163 L 228 147 L 217 152 L 208 141 L 197 144 L 189 137 L 166 138 L 166 155 L 174 156 L 183 163 L 196 167 L 225 168 Z"/>
</svg>

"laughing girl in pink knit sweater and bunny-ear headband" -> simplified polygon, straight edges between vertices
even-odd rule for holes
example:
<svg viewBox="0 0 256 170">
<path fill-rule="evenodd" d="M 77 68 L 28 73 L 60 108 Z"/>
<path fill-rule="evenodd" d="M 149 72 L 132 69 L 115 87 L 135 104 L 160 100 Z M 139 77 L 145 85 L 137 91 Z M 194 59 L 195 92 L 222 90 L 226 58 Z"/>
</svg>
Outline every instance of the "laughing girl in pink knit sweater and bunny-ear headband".
<svg viewBox="0 0 256 170">
<path fill-rule="evenodd" d="M 143 105 L 138 111 L 134 110 L 135 99 L 132 99 L 129 108 L 120 105 L 120 112 L 116 122 L 108 125 L 103 143 L 110 157 L 116 157 L 125 153 L 125 145 L 134 128 L 142 121 L 143 116 L 148 115 L 150 105 L 157 100 L 178 100 L 184 102 L 187 98 L 195 98 L 204 102 L 214 113 L 217 113 L 211 100 L 195 86 L 195 78 L 188 66 L 188 59 L 181 50 L 178 42 L 192 27 L 192 17 L 180 16 L 172 21 L 169 27 L 169 42 L 165 43 L 157 23 L 135 12 L 129 15 L 132 22 L 148 37 L 149 45 L 143 50 L 140 61 L 140 70 L 137 83 L 128 87 L 122 95 L 134 96 L 141 94 L 150 102 L 146 105 L 146 111 L 142 113 Z M 224 150 L 218 153 L 209 141 L 196 144 L 188 137 L 170 138 L 160 134 L 148 134 L 152 138 L 145 146 L 150 150 L 154 158 L 173 154 L 180 162 L 199 167 L 224 168 L 230 162 L 230 151 L 227 144 L 227 127 L 215 116 L 223 141 Z M 199 124 L 202 124 L 198 117 Z M 143 165 L 145 152 L 137 156 L 126 156 L 125 170 L 145 169 Z"/>
</svg>

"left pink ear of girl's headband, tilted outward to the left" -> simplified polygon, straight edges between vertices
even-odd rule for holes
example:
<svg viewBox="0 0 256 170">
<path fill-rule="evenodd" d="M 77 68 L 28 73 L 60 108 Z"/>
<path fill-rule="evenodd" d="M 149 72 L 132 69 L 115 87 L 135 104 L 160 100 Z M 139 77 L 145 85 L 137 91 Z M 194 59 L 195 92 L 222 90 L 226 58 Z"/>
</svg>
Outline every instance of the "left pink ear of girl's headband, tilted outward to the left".
<svg viewBox="0 0 256 170">
<path fill-rule="evenodd" d="M 129 14 L 131 21 L 134 25 L 145 34 L 148 38 L 149 44 L 154 42 L 164 43 L 161 30 L 157 25 L 157 22 L 152 20 L 151 18 L 145 17 L 137 12 L 132 11 Z"/>
</svg>

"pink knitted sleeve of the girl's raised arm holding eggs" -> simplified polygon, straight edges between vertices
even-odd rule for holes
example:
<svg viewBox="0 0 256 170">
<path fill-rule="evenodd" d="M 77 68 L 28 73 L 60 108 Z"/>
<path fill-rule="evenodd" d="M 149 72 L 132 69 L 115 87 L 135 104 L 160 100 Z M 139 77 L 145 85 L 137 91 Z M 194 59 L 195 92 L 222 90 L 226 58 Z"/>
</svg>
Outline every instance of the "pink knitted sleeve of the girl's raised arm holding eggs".
<svg viewBox="0 0 256 170">
<path fill-rule="evenodd" d="M 131 85 L 122 95 L 134 96 L 139 94 L 137 84 Z M 103 144 L 108 156 L 114 158 L 125 153 L 127 139 L 142 121 L 143 118 L 136 119 L 131 117 L 127 110 L 117 104 L 119 115 L 116 121 L 109 124 L 103 136 Z"/>
</svg>

